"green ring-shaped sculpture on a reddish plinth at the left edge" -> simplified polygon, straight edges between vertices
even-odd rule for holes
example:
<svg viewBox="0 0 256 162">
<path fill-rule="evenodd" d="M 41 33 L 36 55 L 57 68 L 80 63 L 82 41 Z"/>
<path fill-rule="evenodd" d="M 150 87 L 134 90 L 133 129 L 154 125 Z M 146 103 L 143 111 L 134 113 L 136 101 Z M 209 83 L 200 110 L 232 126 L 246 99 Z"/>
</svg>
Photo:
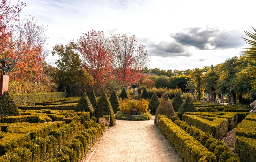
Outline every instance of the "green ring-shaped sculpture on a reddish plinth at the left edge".
<svg viewBox="0 0 256 162">
<path fill-rule="evenodd" d="M 9 63 L 9 62 L 10 63 Z M 9 75 L 6 75 L 7 71 L 11 71 L 14 68 L 14 62 L 9 58 L 3 58 L 0 60 L 0 69 L 3 71 L 0 79 L 0 96 L 3 95 L 4 91 L 8 91 Z"/>
</svg>

